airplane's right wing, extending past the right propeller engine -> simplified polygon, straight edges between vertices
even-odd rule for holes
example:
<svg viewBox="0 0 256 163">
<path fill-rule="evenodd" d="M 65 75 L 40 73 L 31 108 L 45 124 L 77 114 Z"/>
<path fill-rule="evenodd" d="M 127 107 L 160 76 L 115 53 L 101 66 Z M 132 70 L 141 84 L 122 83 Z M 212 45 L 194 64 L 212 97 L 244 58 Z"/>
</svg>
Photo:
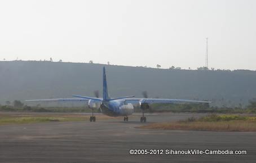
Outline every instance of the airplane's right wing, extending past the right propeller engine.
<svg viewBox="0 0 256 163">
<path fill-rule="evenodd" d="M 189 99 L 166 99 L 166 98 L 126 98 L 126 103 L 176 103 L 176 102 L 191 102 L 191 103 L 211 103 L 210 101 L 197 101 Z"/>
</svg>

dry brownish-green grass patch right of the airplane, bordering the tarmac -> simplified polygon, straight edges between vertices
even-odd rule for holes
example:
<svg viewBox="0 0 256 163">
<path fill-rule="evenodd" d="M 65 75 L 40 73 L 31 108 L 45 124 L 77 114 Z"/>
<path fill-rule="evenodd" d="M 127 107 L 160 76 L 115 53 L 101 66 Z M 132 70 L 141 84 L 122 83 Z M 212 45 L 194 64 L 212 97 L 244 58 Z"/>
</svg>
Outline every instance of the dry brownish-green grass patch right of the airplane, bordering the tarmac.
<svg viewBox="0 0 256 163">
<path fill-rule="evenodd" d="M 256 132 L 256 117 L 241 115 L 209 115 L 171 123 L 143 125 L 142 129 L 200 130 L 218 132 Z"/>
</svg>

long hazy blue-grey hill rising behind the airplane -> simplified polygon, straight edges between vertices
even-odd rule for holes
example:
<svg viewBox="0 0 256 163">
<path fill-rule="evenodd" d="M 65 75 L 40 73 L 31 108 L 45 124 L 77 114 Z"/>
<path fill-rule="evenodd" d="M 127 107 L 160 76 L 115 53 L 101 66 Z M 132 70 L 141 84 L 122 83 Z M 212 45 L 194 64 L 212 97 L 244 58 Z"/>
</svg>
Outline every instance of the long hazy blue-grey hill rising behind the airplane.
<svg viewBox="0 0 256 163">
<path fill-rule="evenodd" d="M 209 99 L 214 106 L 247 105 L 256 97 L 256 71 L 172 70 L 50 61 L 1 61 L 0 103 L 19 99 L 61 98 L 102 93 L 107 69 L 111 97 Z"/>
</svg>

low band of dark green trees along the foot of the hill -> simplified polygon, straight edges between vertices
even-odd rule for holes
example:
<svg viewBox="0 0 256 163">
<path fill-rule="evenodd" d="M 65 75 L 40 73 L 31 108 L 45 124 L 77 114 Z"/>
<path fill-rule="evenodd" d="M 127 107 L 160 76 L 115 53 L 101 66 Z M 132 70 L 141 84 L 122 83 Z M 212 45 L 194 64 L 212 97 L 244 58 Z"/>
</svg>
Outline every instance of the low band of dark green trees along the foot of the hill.
<svg viewBox="0 0 256 163">
<path fill-rule="evenodd" d="M 0 111 L 16 111 L 16 112 L 91 112 L 88 107 L 41 107 L 27 106 L 19 100 L 7 102 L 9 105 L 0 106 Z M 100 112 L 100 110 L 95 110 Z M 140 108 L 135 107 L 135 112 L 141 112 Z M 246 108 L 242 107 L 217 107 L 211 106 L 209 103 L 155 103 L 149 105 L 146 112 L 197 112 L 197 113 L 256 113 L 256 98 L 249 101 Z"/>
</svg>

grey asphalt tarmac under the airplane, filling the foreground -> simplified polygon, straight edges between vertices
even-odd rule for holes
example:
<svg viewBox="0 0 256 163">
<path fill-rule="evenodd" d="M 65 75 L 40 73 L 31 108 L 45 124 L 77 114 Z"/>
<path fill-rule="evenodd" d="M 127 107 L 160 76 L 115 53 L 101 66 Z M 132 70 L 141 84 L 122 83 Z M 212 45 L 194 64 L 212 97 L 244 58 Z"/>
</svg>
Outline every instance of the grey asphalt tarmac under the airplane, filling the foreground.
<svg viewBox="0 0 256 163">
<path fill-rule="evenodd" d="M 148 123 L 202 114 L 147 115 Z M 138 129 L 140 115 L 95 123 L 0 126 L 0 162 L 255 162 L 256 133 Z M 130 149 L 247 150 L 247 155 L 130 155 Z M 164 152 L 165 153 L 165 152 Z"/>
</svg>

